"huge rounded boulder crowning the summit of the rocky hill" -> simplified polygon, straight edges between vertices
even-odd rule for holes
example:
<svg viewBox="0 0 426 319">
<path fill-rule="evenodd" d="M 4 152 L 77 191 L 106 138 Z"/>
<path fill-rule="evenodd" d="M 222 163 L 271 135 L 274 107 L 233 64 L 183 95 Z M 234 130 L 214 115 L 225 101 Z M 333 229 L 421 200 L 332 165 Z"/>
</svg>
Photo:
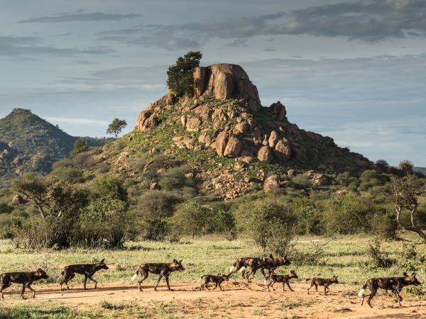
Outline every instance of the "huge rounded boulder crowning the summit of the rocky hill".
<svg viewBox="0 0 426 319">
<path fill-rule="evenodd" d="M 261 108 L 256 86 L 239 65 L 220 63 L 209 67 L 197 67 L 194 71 L 195 96 L 213 93 L 216 99 L 243 99 L 251 110 Z"/>
</svg>

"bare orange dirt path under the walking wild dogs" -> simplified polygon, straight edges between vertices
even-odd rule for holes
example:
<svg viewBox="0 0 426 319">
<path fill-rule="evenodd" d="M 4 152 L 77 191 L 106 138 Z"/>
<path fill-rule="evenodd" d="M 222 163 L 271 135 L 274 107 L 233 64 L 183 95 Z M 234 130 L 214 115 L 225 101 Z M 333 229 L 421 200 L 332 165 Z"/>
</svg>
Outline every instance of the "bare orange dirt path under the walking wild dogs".
<svg viewBox="0 0 426 319">
<path fill-rule="evenodd" d="M 276 291 L 268 292 L 260 281 L 246 284 L 242 281 L 229 281 L 222 286 L 225 291 L 199 291 L 197 283 L 171 283 L 175 291 L 165 291 L 161 284 L 153 291 L 153 284 L 143 285 L 139 292 L 136 284 L 99 284 L 97 290 L 84 291 L 81 284 L 72 290 L 60 292 L 58 286 L 34 286 L 35 299 L 40 301 L 59 301 L 65 306 L 86 309 L 97 306 L 101 301 L 111 303 L 133 303 L 139 306 L 158 306 L 162 302 L 173 307 L 173 314 L 179 318 L 214 316 L 217 318 L 426 318 L 425 301 L 403 301 L 398 308 L 393 298 L 383 296 L 382 292 L 373 300 L 373 309 L 361 306 L 360 298 L 351 286 L 332 286 L 329 296 L 306 293 L 307 284 L 291 284 L 294 292 L 283 292 L 275 284 Z M 21 303 L 11 293 L 19 293 L 17 286 L 5 293 L 8 303 Z M 405 294 L 403 293 L 403 296 Z M 1 301 L 0 301 L 1 302 Z"/>
</svg>

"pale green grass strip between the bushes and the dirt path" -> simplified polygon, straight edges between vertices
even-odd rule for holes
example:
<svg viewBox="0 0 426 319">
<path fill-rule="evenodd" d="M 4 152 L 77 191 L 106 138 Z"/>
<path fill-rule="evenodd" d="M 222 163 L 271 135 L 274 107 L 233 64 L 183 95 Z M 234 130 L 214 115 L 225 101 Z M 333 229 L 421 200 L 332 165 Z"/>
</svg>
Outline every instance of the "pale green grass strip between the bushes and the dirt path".
<svg viewBox="0 0 426 319">
<path fill-rule="evenodd" d="M 382 242 L 382 249 L 389 257 L 400 260 L 403 245 L 407 240 L 417 243 L 417 237 L 403 234 L 405 240 Z M 386 269 L 366 267 L 366 252 L 373 237 L 368 236 L 339 236 L 339 237 L 299 237 L 295 248 L 301 252 L 312 252 L 312 240 L 325 243 L 324 259 L 317 266 L 290 266 L 295 269 L 299 281 L 311 276 L 339 276 L 342 284 L 359 285 L 372 276 L 399 275 L 410 269 L 402 269 L 403 263 L 396 262 Z M 49 283 L 55 282 L 65 264 L 90 263 L 105 258 L 111 266 L 109 271 L 96 274 L 99 283 L 129 282 L 136 272 L 138 264 L 143 262 L 172 262 L 173 259 L 183 259 L 185 272 L 172 274 L 173 281 L 195 281 L 202 274 L 226 273 L 238 257 L 261 255 L 261 252 L 249 240 L 224 240 L 222 237 L 190 238 L 180 243 L 170 242 L 127 242 L 123 250 L 46 250 L 23 251 L 13 248 L 8 240 L 0 241 L 0 272 L 28 271 L 42 267 L 51 276 Z M 416 245 L 419 256 L 426 255 L 425 245 Z M 278 272 L 288 272 L 278 269 Z M 360 276 L 361 274 L 361 276 Z M 236 276 L 239 276 L 238 274 Z M 261 274 L 257 275 L 261 279 Z M 419 272 L 420 281 L 425 281 L 423 272 Z M 155 281 L 155 276 L 149 276 L 147 281 Z M 76 278 L 74 282 L 81 282 Z"/>
</svg>

